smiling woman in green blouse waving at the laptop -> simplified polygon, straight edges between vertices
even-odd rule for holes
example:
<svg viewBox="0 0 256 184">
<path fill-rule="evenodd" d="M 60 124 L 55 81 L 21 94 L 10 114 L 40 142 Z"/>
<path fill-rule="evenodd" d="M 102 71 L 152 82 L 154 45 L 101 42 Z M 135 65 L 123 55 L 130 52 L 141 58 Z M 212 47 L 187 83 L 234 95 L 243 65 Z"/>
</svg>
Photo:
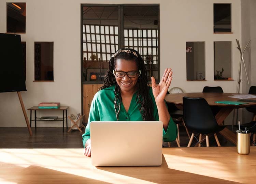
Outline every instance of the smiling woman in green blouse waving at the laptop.
<svg viewBox="0 0 256 184">
<path fill-rule="evenodd" d="M 151 88 L 139 52 L 133 49 L 117 50 L 109 61 L 103 86 L 91 103 L 88 124 L 82 135 L 85 156 L 91 156 L 91 121 L 159 120 L 163 122 L 163 140 L 175 140 L 177 127 L 165 103 L 171 80 L 171 68 L 166 68 L 158 85 L 151 77 Z"/>
</svg>

